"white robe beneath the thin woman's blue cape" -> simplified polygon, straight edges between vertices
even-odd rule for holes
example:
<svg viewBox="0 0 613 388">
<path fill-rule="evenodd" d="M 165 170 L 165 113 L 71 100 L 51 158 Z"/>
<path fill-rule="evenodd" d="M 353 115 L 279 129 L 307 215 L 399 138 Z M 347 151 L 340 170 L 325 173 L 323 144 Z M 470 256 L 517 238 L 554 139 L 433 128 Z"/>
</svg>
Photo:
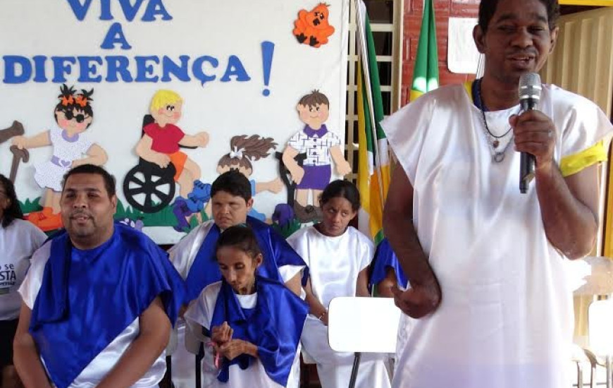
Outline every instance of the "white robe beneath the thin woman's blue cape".
<svg viewBox="0 0 613 388">
<path fill-rule="evenodd" d="M 190 334 L 206 344 L 206 337 L 202 335 L 202 327 L 211 330 L 211 320 L 217 303 L 217 296 L 221 290 L 221 281 L 206 286 L 200 296 L 190 303 L 190 308 L 185 312 L 185 322 L 190 330 Z M 237 295 L 238 303 L 242 308 L 254 308 L 257 302 L 257 293 L 251 295 Z M 205 346 L 205 358 L 213 360 L 211 348 Z M 210 365 L 210 362 L 207 363 Z M 286 387 L 298 387 L 299 383 L 299 365 L 300 352 L 296 352 L 294 364 L 290 371 L 290 376 L 287 379 Z M 228 382 L 220 382 L 217 380 L 217 370 L 215 368 L 207 368 L 205 371 L 206 384 L 204 388 L 285 388 L 271 380 L 266 374 L 264 365 L 258 359 L 255 359 L 249 368 L 242 370 L 237 364 L 230 365 L 228 370 Z M 208 384 L 208 385 L 207 385 Z"/>
</svg>

